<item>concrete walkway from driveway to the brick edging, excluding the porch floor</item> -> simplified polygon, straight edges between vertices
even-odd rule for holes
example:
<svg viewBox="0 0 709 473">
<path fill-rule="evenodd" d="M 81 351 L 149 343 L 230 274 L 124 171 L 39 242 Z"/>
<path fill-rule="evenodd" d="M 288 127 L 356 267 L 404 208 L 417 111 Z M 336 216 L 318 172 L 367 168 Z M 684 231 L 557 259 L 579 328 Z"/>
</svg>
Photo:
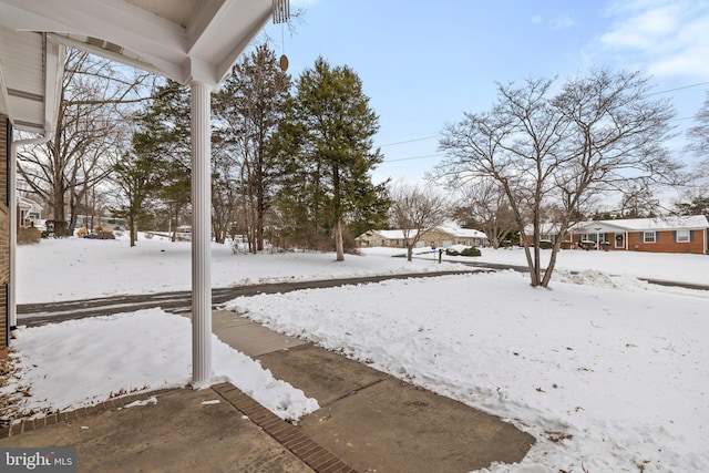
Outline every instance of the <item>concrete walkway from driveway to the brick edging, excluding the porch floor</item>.
<svg viewBox="0 0 709 473">
<path fill-rule="evenodd" d="M 215 311 L 213 330 L 317 399 L 320 410 L 298 426 L 358 471 L 467 472 L 495 461 L 518 462 L 534 443 L 499 418 L 235 312 Z"/>
</svg>

